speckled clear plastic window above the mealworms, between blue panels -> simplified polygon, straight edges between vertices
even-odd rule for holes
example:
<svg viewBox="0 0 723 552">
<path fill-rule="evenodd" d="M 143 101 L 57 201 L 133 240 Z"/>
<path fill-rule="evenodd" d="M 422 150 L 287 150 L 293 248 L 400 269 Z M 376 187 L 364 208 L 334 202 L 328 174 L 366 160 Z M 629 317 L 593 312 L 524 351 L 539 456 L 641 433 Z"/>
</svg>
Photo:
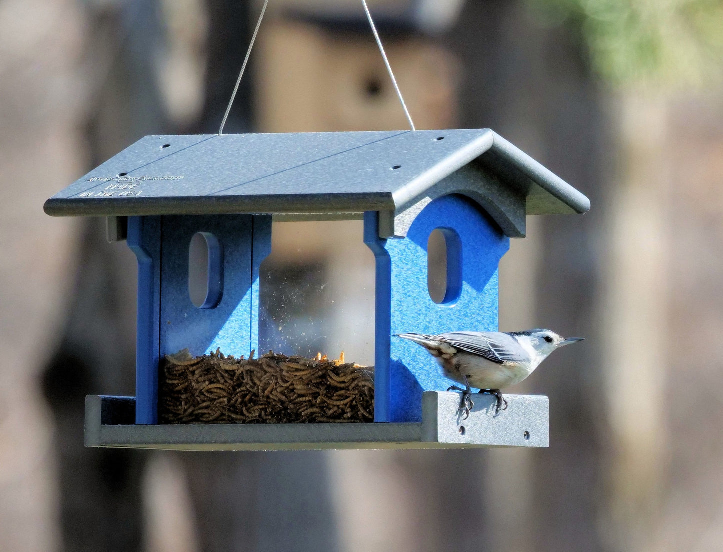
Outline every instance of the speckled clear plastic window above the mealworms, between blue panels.
<svg viewBox="0 0 723 552">
<path fill-rule="evenodd" d="M 274 222 L 260 268 L 260 352 L 374 364 L 375 258 L 361 221 Z"/>
</svg>

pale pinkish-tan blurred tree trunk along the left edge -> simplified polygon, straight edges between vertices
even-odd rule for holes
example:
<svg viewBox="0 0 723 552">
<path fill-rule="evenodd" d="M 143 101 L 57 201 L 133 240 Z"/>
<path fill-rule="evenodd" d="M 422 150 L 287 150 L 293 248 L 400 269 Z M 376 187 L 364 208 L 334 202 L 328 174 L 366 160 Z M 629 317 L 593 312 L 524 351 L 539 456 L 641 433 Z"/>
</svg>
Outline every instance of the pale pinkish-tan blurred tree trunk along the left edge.
<svg viewBox="0 0 723 552">
<path fill-rule="evenodd" d="M 77 223 L 43 201 L 85 164 L 74 0 L 0 2 L 0 548 L 54 551 L 59 489 L 40 373 L 58 341 Z"/>
</svg>

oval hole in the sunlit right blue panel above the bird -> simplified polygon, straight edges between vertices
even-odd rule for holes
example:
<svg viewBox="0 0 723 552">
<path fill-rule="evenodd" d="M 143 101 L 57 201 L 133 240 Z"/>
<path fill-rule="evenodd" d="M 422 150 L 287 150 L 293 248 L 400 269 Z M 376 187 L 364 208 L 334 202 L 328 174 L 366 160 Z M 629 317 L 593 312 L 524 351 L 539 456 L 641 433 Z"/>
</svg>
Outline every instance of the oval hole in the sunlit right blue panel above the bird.
<svg viewBox="0 0 723 552">
<path fill-rule="evenodd" d="M 427 291 L 437 305 L 456 301 L 462 292 L 462 244 L 451 228 L 436 228 L 427 240 Z"/>
</svg>

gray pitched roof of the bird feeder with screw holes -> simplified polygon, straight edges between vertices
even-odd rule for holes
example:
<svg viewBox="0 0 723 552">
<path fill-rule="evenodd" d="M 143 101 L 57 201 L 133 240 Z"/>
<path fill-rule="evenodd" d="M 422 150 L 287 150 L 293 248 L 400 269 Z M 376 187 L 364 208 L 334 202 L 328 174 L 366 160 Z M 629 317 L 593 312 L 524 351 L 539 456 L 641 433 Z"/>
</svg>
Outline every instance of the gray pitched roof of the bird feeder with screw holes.
<svg viewBox="0 0 723 552">
<path fill-rule="evenodd" d="M 476 170 L 456 179 L 454 193 L 479 196 L 487 178 L 525 201 L 526 214 L 590 208 L 534 159 L 476 129 L 146 136 L 43 209 L 54 216 L 401 212 L 467 166 Z"/>
</svg>

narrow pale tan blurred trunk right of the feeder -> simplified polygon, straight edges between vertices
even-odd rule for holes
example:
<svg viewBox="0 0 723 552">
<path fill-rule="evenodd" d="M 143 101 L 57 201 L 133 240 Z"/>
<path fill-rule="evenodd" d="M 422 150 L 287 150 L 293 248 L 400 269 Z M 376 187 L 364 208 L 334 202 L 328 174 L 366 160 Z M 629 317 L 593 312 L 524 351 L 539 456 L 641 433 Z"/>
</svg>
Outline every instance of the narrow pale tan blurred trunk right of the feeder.
<svg viewBox="0 0 723 552">
<path fill-rule="evenodd" d="M 665 392 L 669 381 L 667 227 L 671 167 L 669 100 L 640 90 L 617 95 L 619 185 L 603 234 L 609 244 L 600 296 L 602 368 L 610 424 L 602 522 L 617 551 L 657 550 L 669 454 Z M 634 415 L 633 415 L 634 411 Z"/>
</svg>

